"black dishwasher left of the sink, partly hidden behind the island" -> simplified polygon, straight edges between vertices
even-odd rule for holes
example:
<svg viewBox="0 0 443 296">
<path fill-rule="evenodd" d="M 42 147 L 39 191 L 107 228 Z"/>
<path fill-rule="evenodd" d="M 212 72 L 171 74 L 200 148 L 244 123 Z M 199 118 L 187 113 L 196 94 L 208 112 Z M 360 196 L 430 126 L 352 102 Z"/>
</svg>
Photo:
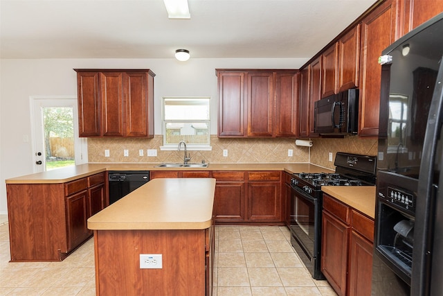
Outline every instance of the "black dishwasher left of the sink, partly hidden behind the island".
<svg viewBox="0 0 443 296">
<path fill-rule="evenodd" d="M 150 180 L 149 171 L 109 171 L 109 204 L 136 190 Z"/>
</svg>

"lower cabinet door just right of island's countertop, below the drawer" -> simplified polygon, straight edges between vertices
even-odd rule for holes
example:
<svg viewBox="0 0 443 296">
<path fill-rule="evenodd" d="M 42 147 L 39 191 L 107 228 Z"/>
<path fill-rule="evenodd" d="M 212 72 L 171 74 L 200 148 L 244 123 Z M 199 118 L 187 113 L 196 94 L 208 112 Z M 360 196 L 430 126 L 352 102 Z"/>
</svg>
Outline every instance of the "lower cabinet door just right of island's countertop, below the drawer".
<svg viewBox="0 0 443 296">
<path fill-rule="evenodd" d="M 214 216 L 217 222 L 241 222 L 244 217 L 244 182 L 217 182 Z"/>
</svg>

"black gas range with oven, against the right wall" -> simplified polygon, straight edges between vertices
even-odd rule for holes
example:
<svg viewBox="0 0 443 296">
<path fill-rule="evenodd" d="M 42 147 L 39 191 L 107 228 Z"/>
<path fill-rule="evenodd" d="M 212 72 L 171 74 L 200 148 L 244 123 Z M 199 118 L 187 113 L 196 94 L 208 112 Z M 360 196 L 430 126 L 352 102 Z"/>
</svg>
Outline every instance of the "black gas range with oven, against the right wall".
<svg viewBox="0 0 443 296">
<path fill-rule="evenodd" d="M 321 186 L 374 186 L 377 157 L 337 153 L 334 173 L 296 173 L 291 178 L 291 244 L 314 279 L 320 271 Z"/>
</svg>

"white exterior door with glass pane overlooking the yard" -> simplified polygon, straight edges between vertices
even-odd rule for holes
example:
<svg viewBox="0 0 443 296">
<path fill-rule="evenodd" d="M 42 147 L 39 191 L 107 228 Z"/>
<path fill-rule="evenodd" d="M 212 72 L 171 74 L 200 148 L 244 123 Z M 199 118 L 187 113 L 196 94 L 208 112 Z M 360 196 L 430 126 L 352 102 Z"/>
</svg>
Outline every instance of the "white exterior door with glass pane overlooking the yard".
<svg viewBox="0 0 443 296">
<path fill-rule="evenodd" d="M 75 97 L 31 97 L 34 172 L 87 163 Z"/>
</svg>

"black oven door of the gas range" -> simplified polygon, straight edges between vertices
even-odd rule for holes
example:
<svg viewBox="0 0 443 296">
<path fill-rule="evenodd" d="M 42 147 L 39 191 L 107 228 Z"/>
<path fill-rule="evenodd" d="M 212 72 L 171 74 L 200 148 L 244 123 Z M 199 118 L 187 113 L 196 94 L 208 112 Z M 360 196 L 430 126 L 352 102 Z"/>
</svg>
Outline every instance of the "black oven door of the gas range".
<svg viewBox="0 0 443 296">
<path fill-rule="evenodd" d="M 291 244 L 314 279 L 323 279 L 320 272 L 320 207 L 302 189 L 291 185 Z"/>
</svg>

